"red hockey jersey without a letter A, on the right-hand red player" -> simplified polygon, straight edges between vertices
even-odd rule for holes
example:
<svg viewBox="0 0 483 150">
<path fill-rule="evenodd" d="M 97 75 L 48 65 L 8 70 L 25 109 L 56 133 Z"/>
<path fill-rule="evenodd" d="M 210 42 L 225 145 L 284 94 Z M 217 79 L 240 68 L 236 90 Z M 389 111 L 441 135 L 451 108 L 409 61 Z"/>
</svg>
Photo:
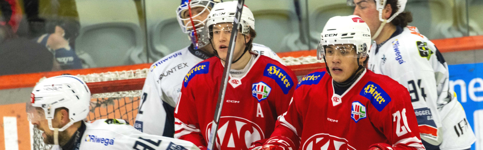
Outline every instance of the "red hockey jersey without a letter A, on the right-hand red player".
<svg viewBox="0 0 483 150">
<path fill-rule="evenodd" d="M 299 150 L 368 150 L 377 143 L 393 147 L 385 150 L 424 150 L 405 87 L 365 70 L 337 95 L 326 72 L 317 70 L 299 80 L 273 139 L 288 137 Z"/>
</svg>

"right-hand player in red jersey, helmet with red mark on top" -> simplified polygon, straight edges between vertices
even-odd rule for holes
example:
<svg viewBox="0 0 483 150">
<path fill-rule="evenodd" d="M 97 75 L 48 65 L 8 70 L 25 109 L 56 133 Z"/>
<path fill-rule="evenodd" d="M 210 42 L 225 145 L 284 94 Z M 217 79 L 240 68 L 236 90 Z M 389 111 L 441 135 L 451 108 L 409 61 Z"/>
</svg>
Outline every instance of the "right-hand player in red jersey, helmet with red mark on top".
<svg viewBox="0 0 483 150">
<path fill-rule="evenodd" d="M 252 149 L 425 150 L 406 88 L 363 67 L 369 44 L 360 17 L 330 18 L 317 48 L 327 68 L 299 80 L 271 138 Z"/>
</svg>

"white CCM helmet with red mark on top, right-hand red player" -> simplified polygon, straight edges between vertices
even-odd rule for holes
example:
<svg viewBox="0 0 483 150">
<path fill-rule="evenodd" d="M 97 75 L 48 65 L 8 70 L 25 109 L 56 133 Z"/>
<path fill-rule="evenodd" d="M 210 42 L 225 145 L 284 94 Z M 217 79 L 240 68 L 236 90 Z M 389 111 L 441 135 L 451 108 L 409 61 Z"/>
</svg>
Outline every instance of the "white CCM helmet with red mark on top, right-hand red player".
<svg viewBox="0 0 483 150">
<path fill-rule="evenodd" d="M 317 59 L 326 57 L 326 46 L 353 44 L 357 50 L 355 57 L 366 57 L 370 46 L 369 26 L 357 15 L 335 16 L 327 21 L 320 34 Z"/>
</svg>

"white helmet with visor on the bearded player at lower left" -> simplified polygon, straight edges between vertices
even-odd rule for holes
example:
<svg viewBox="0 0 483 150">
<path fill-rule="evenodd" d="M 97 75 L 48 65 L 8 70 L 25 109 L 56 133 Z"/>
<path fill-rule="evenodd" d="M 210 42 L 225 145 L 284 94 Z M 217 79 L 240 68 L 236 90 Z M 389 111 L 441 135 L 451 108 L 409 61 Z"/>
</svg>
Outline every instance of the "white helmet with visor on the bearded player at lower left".
<svg viewBox="0 0 483 150">
<path fill-rule="evenodd" d="M 90 90 L 85 82 L 74 75 L 49 77 L 39 82 L 32 90 L 31 101 L 27 103 L 29 121 L 47 120 L 50 130 L 64 131 L 89 114 Z M 43 112 L 35 109 L 39 107 Z M 61 128 L 52 126 L 55 110 L 65 107 L 69 110 L 70 122 Z"/>
</svg>

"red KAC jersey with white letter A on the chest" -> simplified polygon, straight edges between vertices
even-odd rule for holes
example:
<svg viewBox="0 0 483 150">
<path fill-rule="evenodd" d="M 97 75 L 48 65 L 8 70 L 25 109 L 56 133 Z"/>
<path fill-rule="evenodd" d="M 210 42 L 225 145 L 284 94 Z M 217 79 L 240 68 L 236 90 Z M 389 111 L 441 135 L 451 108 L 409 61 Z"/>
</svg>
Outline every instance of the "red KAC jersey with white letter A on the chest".
<svg viewBox="0 0 483 150">
<path fill-rule="evenodd" d="M 175 138 L 206 149 L 224 66 L 212 57 L 185 76 L 176 106 Z M 287 111 L 297 84 L 281 63 L 258 55 L 241 78 L 230 75 L 215 149 L 247 150 L 252 142 L 270 137 L 277 117 Z"/>
</svg>

